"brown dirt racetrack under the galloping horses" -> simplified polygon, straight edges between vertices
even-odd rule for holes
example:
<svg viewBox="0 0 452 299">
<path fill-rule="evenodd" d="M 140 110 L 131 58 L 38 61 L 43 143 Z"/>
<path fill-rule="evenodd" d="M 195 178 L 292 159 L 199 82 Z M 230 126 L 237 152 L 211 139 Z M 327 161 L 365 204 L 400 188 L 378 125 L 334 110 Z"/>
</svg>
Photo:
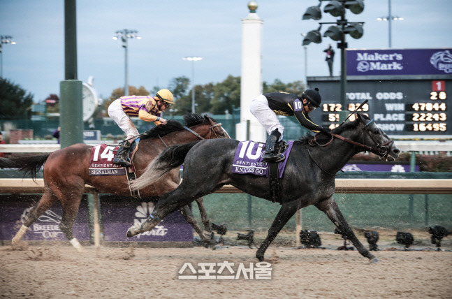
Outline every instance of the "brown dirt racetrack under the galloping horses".
<svg viewBox="0 0 452 299">
<path fill-rule="evenodd" d="M 341 244 L 337 237 L 332 237 L 333 247 Z M 444 239 L 444 245 L 450 243 Z M 24 242 L 0 247 L 0 298 L 452 298 L 452 251 L 391 246 L 374 251 L 380 262 L 372 264 L 356 250 L 270 247 L 265 254 L 272 267 L 267 280 L 244 275 L 201 279 L 202 263 L 227 261 L 235 264 L 235 272 L 240 264 L 256 267 L 256 249 L 246 246 L 87 246 L 79 254 L 70 246 Z M 185 263 L 196 268 L 198 279 L 180 278 L 187 277 L 189 267 L 179 273 Z M 219 273 L 218 267 L 212 269 Z"/>
</svg>

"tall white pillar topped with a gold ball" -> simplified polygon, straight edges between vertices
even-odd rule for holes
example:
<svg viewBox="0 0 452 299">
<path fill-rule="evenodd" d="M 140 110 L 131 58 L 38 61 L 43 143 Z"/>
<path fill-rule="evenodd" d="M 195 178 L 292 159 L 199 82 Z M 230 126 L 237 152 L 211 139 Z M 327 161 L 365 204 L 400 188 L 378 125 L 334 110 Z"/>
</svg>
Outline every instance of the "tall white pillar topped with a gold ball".
<svg viewBox="0 0 452 299">
<path fill-rule="evenodd" d="M 265 142 L 266 132 L 256 117 L 249 111 L 251 101 L 262 94 L 262 29 L 263 20 L 257 13 L 256 1 L 248 3 L 249 15 L 242 19 L 242 77 L 240 83 L 240 123 L 236 125 L 235 138 Z"/>
</svg>

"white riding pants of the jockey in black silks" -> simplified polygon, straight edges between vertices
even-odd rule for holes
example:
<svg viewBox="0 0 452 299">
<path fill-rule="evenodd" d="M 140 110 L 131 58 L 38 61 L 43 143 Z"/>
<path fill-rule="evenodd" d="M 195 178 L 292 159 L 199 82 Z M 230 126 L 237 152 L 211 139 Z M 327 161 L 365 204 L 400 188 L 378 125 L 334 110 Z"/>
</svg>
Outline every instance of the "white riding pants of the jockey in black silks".
<svg viewBox="0 0 452 299">
<path fill-rule="evenodd" d="M 282 140 L 282 133 L 284 132 L 284 126 L 279 122 L 278 117 L 275 112 L 268 107 L 267 98 L 263 94 L 257 96 L 251 104 L 249 105 L 249 110 L 252 115 L 254 115 L 257 120 L 264 127 L 265 131 L 267 131 L 268 135 L 278 129 L 279 133 L 281 133 L 281 137 L 279 140 Z M 279 141 L 278 140 L 278 141 Z"/>
</svg>

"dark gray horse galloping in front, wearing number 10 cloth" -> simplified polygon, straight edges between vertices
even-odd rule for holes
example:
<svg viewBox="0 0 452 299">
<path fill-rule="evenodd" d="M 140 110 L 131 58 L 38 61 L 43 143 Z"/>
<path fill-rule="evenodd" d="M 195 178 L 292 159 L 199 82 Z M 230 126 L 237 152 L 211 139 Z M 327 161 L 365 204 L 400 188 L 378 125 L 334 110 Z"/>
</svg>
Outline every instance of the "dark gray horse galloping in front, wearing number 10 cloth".
<svg viewBox="0 0 452 299">
<path fill-rule="evenodd" d="M 320 133 L 307 136 L 293 143 L 287 158 L 284 176 L 280 179 L 281 209 L 279 210 L 267 238 L 256 252 L 256 258 L 263 261 L 265 250 L 276 238 L 287 221 L 297 210 L 314 205 L 325 212 L 328 218 L 347 236 L 359 253 L 377 262 L 356 238 L 349 224 L 333 198 L 335 173 L 354 154 L 365 150 L 378 154 L 386 161 L 398 157 L 400 149 L 367 116 L 358 113 L 356 120 L 332 131 L 332 136 Z M 164 150 L 145 173 L 133 183 L 133 189 L 155 184 L 166 173 L 184 163 L 184 180 L 179 187 L 162 194 L 150 217 L 140 226 L 132 226 L 128 237 L 150 231 L 167 214 L 191 203 L 196 198 L 211 194 L 225 184 L 267 200 L 271 200 L 267 177 L 231 173 L 237 140 L 205 140 L 186 145 L 172 146 Z M 327 146 L 324 146 L 328 144 Z M 323 146 L 322 146 L 323 145 Z"/>
</svg>

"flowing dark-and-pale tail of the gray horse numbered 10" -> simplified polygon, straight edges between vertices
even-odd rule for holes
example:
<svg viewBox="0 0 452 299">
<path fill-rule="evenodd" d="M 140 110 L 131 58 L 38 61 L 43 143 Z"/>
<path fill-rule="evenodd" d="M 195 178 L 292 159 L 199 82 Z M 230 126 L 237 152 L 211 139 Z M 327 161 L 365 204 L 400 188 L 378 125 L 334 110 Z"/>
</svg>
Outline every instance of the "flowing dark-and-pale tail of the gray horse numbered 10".
<svg viewBox="0 0 452 299">
<path fill-rule="evenodd" d="M 143 189 L 149 184 L 154 184 L 161 180 L 161 178 L 167 175 L 171 170 L 181 166 L 191 147 L 194 147 L 200 141 L 201 140 L 184 145 L 171 145 L 170 147 L 166 147 L 156 159 L 149 163 L 145 173 L 130 183 L 131 189 Z"/>
</svg>

